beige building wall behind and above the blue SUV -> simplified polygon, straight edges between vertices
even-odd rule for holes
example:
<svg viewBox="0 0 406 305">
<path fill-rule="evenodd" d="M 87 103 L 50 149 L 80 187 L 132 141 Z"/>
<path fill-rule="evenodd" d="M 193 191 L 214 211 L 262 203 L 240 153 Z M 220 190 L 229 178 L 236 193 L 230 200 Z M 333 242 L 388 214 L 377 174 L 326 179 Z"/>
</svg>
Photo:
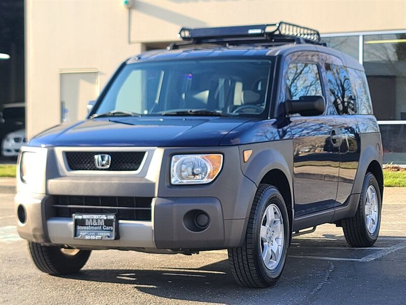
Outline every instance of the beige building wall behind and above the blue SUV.
<svg viewBox="0 0 406 305">
<path fill-rule="evenodd" d="M 145 43 L 180 27 L 284 20 L 320 33 L 406 29 L 406 0 L 26 0 L 27 136 L 60 123 L 60 73 L 98 71 L 101 89 Z M 81 101 L 86 105 L 87 101 Z"/>
</svg>

